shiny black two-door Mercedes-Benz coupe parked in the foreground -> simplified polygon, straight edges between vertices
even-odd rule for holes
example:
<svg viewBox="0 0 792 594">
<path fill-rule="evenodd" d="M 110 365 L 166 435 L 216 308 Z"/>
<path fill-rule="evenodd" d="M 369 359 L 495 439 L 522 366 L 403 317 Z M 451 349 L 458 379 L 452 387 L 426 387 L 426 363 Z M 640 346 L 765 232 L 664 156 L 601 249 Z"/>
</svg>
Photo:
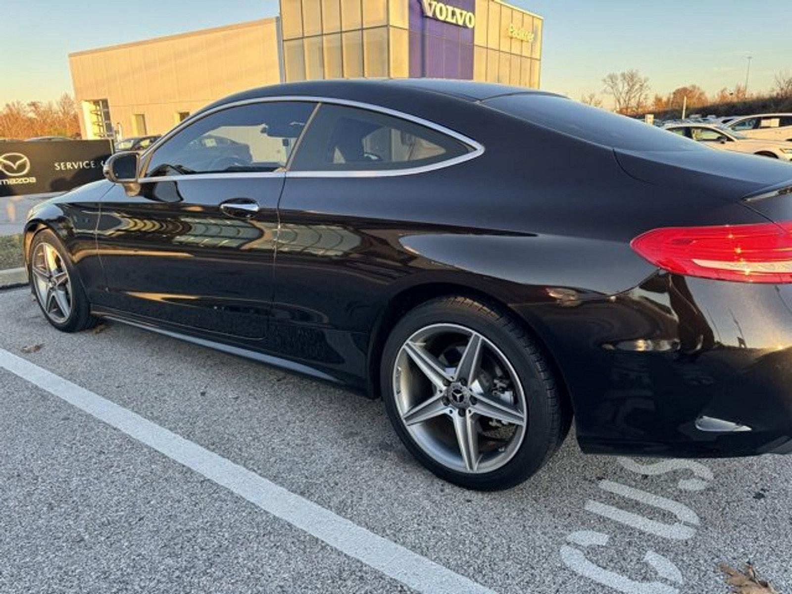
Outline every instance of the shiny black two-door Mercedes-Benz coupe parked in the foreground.
<svg viewBox="0 0 792 594">
<path fill-rule="evenodd" d="M 551 93 L 301 82 L 196 112 L 25 226 L 111 318 L 381 396 L 432 472 L 792 451 L 792 167 Z"/>
</svg>

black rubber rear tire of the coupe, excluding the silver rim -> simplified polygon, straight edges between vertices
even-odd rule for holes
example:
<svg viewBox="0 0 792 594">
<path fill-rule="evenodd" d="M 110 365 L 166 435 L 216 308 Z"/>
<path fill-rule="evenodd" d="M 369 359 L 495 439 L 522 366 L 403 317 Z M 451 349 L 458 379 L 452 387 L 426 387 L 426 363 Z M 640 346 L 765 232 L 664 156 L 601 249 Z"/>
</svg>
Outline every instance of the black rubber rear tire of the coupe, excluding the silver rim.
<svg viewBox="0 0 792 594">
<path fill-rule="evenodd" d="M 393 386 L 398 353 L 413 333 L 439 323 L 465 326 L 486 337 L 508 358 L 524 386 L 527 431 L 512 458 L 491 472 L 464 473 L 437 462 L 413 440 L 398 412 Z M 474 299 L 443 297 L 410 310 L 386 341 L 380 383 L 390 422 L 410 453 L 438 477 L 467 489 L 508 489 L 524 482 L 545 465 L 569 432 L 569 406 L 558 392 L 554 374 L 539 345 L 511 315 Z"/>
</svg>

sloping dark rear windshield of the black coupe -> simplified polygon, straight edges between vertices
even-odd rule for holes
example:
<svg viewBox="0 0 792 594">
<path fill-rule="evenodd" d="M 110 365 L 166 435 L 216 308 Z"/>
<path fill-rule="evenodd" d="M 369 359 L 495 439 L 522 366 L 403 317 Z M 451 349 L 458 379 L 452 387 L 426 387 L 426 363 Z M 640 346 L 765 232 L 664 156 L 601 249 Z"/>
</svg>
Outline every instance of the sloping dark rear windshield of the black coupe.
<svg viewBox="0 0 792 594">
<path fill-rule="evenodd" d="M 641 121 L 554 95 L 493 97 L 485 105 L 591 143 L 624 150 L 708 150 Z"/>
</svg>

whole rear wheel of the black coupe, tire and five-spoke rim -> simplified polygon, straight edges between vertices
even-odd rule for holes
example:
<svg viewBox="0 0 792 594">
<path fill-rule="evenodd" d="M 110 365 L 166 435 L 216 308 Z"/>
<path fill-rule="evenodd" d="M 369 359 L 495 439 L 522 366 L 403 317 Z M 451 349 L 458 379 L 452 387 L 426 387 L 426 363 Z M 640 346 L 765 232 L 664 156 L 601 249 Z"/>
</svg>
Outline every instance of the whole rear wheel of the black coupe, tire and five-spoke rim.
<svg viewBox="0 0 792 594">
<path fill-rule="evenodd" d="M 429 470 L 470 489 L 535 474 L 569 430 L 553 374 L 525 329 L 464 297 L 411 310 L 383 351 L 390 421 Z"/>
</svg>

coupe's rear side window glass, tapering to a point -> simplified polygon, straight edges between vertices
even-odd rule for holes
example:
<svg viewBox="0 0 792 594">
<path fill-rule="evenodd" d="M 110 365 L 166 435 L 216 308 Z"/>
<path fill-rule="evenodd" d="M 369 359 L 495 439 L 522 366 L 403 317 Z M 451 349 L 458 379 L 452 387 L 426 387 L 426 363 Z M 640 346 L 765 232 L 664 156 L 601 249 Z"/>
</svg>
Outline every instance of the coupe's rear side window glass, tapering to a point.
<svg viewBox="0 0 792 594">
<path fill-rule="evenodd" d="M 432 165 L 472 147 L 408 120 L 344 105 L 322 105 L 300 143 L 294 171 L 378 171 Z"/>
</svg>

